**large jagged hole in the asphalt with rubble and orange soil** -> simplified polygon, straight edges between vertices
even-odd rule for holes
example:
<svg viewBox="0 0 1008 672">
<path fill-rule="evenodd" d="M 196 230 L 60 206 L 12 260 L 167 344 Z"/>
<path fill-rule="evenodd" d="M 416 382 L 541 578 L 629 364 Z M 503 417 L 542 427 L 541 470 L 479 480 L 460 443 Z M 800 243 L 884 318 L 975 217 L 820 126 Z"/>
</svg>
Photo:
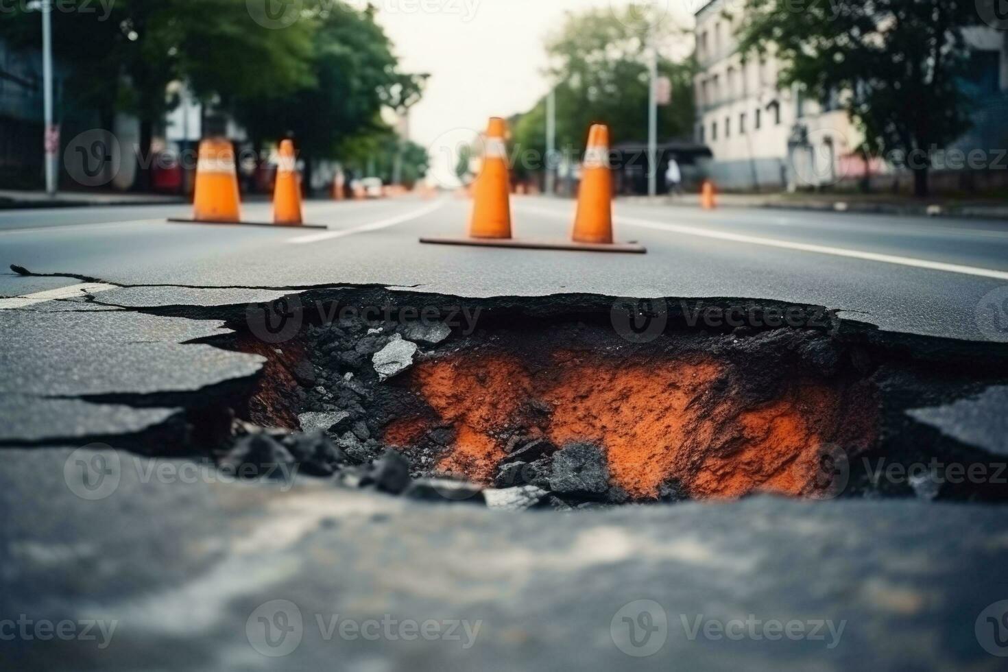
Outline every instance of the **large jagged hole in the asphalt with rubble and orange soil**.
<svg viewBox="0 0 1008 672">
<path fill-rule="evenodd" d="M 233 323 L 230 347 L 268 361 L 239 415 L 325 432 L 346 464 L 323 473 L 352 485 L 386 478 L 391 455 L 413 480 L 523 489 L 555 508 L 1006 497 L 943 478 L 996 463 L 906 413 L 1008 380 L 997 347 L 769 302 L 389 296 L 301 305 L 301 327 L 277 343 L 262 338 L 272 309 Z"/>
</svg>

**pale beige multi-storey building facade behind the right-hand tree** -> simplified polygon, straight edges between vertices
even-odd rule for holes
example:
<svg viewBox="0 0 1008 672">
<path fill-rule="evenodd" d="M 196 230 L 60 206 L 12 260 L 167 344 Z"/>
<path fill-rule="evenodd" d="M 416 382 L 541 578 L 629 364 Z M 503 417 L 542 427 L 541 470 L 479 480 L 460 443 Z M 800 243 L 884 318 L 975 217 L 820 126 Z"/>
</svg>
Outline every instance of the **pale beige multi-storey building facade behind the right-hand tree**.
<svg viewBox="0 0 1008 672">
<path fill-rule="evenodd" d="M 794 190 L 860 179 L 865 166 L 854 152 L 863 138 L 838 97 L 809 100 L 798 88 L 778 89 L 772 48 L 765 57 L 739 52 L 745 5 L 710 0 L 696 13 L 695 135 L 713 153 L 709 175 L 731 190 Z M 962 86 L 976 101 L 974 128 L 949 149 L 1008 146 L 1008 32 L 982 26 L 966 36 L 976 66 Z M 942 174 L 940 157 L 935 168 L 938 183 L 964 177 L 961 171 Z M 871 172 L 890 183 L 909 179 L 882 162 Z"/>
</svg>

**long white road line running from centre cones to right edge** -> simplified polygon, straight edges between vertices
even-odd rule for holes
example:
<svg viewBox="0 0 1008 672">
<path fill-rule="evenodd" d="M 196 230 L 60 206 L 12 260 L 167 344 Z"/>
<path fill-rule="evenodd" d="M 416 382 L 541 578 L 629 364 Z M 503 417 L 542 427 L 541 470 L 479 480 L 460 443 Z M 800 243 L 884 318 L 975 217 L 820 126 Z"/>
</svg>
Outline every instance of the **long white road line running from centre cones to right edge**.
<svg viewBox="0 0 1008 672">
<path fill-rule="evenodd" d="M 522 212 L 545 215 L 554 218 L 565 218 L 566 215 L 542 208 L 520 208 Z M 645 229 L 656 229 L 658 231 L 669 231 L 685 236 L 699 236 L 702 238 L 713 238 L 733 243 L 748 243 L 749 245 L 762 245 L 764 247 L 774 247 L 783 250 L 798 250 L 801 252 L 812 252 L 815 254 L 828 254 L 835 257 L 847 257 L 849 259 L 862 259 L 864 261 L 877 261 L 883 264 L 897 264 L 900 266 L 911 266 L 913 268 L 926 268 L 932 271 L 944 271 L 947 273 L 960 273 L 962 275 L 974 275 L 981 278 L 994 278 L 995 280 L 1008 280 L 1008 271 L 996 271 L 990 268 L 979 268 L 976 266 L 964 266 L 961 264 L 947 264 L 940 261 L 929 261 L 927 259 L 916 259 L 914 257 L 901 257 L 891 254 L 880 254 L 876 252 L 863 252 L 861 250 L 849 250 L 827 245 L 811 245 L 808 243 L 795 243 L 792 241 L 782 241 L 776 238 L 762 238 L 760 236 L 746 236 L 744 234 L 731 234 L 726 231 L 714 231 L 713 229 L 702 229 L 700 227 L 685 227 L 678 224 L 665 224 L 663 222 L 652 222 L 632 217 L 617 217 L 615 222 L 618 225 L 628 225 L 632 227 L 642 227 Z"/>
</svg>

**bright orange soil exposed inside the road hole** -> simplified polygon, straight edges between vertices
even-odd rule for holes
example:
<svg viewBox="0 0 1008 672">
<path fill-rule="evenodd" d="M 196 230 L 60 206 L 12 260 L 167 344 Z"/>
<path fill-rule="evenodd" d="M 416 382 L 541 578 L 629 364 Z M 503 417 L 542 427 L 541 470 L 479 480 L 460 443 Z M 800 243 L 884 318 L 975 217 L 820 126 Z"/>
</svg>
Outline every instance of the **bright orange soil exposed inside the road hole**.
<svg viewBox="0 0 1008 672">
<path fill-rule="evenodd" d="M 820 476 L 821 448 L 844 434 L 867 447 L 871 420 L 849 423 L 840 393 L 795 382 L 778 399 L 742 408 L 730 386 L 717 385 L 728 366 L 713 359 L 607 362 L 558 352 L 534 376 L 513 357 L 454 357 L 419 365 L 417 392 L 457 440 L 442 472 L 490 483 L 516 430 L 554 444 L 603 446 L 611 480 L 635 498 L 654 498 L 669 479 L 697 499 L 753 491 L 801 496 Z M 545 402 L 549 416 L 529 411 Z M 860 415 L 860 414 L 859 414 Z M 872 413 L 864 414 L 872 418 Z M 424 430 L 416 418 L 392 423 L 386 443 L 408 445 Z"/>
</svg>

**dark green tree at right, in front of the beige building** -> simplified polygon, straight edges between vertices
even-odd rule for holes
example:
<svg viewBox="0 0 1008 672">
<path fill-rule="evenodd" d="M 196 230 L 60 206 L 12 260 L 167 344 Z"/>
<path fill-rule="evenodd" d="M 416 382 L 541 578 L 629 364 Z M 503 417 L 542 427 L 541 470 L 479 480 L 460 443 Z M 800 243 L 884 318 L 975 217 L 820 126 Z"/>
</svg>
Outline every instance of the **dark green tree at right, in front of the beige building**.
<svg viewBox="0 0 1008 672">
<path fill-rule="evenodd" d="M 739 48 L 775 49 L 779 84 L 841 101 L 865 147 L 908 158 L 914 193 L 928 193 L 929 150 L 969 128 L 958 78 L 969 49 L 963 29 L 977 0 L 749 0 Z"/>
</svg>

